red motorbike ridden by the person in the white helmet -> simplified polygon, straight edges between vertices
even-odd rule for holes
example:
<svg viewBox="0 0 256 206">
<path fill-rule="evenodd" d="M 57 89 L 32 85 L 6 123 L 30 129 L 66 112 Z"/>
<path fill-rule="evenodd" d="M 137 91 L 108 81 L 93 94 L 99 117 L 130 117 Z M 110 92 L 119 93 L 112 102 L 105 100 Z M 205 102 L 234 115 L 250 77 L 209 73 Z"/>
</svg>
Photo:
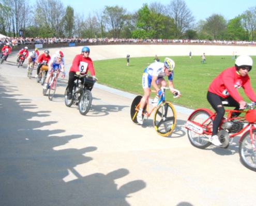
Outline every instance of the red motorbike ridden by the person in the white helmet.
<svg viewBox="0 0 256 206">
<path fill-rule="evenodd" d="M 227 106 L 228 102 L 222 102 Z M 222 148 L 228 148 L 236 135 L 242 134 L 239 139 L 239 157 L 242 164 L 256 171 L 256 102 L 247 104 L 247 111 L 226 110 L 227 117 L 223 117 L 217 133 Z M 241 113 L 232 117 L 232 112 Z M 244 114 L 244 115 L 242 115 Z M 190 143 L 197 148 L 204 149 L 210 146 L 209 137 L 212 136 L 213 120 L 216 112 L 201 108 L 193 111 L 186 122 Z"/>
</svg>

